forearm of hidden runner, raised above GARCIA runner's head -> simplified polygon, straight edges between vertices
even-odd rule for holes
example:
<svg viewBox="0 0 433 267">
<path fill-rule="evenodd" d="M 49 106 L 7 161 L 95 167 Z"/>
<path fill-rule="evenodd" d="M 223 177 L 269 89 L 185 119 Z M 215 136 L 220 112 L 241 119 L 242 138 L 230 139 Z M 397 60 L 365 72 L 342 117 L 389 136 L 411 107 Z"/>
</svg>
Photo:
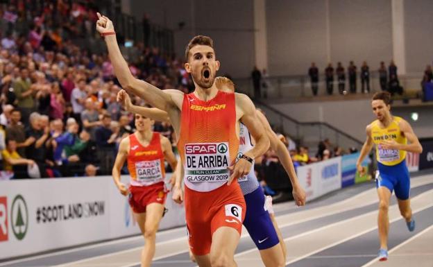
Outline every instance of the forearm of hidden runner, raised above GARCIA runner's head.
<svg viewBox="0 0 433 267">
<path fill-rule="evenodd" d="M 165 121 L 170 122 L 169 114 L 164 110 L 160 110 L 156 107 L 140 107 L 133 105 L 130 101 L 130 97 L 125 90 L 120 90 L 117 93 L 117 101 L 124 106 L 127 112 L 134 114 L 140 114 L 146 118 L 153 119 L 153 121 Z"/>
</svg>

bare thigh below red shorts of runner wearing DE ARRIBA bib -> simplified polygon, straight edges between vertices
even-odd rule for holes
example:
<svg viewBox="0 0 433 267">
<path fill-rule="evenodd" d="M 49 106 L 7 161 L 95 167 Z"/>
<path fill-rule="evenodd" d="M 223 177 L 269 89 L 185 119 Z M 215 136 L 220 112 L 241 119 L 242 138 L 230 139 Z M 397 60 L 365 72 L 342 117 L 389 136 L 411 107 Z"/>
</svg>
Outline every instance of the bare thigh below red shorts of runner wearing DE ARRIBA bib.
<svg viewBox="0 0 433 267">
<path fill-rule="evenodd" d="M 212 235 L 210 262 L 212 267 L 236 267 L 235 250 L 239 243 L 239 232 L 232 227 L 219 227 Z M 196 257 L 198 262 L 198 257 Z"/>
</svg>

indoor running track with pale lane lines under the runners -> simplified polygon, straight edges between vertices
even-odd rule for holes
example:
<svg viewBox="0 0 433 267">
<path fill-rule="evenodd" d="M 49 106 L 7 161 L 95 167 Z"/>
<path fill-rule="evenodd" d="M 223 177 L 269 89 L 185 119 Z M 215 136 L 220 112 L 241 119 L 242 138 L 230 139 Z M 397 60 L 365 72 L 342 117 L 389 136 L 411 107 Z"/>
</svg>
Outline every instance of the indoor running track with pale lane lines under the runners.
<svg viewBox="0 0 433 267">
<path fill-rule="evenodd" d="M 287 245 L 287 266 L 293 267 L 433 267 L 433 175 L 411 180 L 411 207 L 416 230 L 409 232 L 398 212 L 395 196 L 389 209 L 389 260 L 376 253 L 377 196 L 367 182 L 324 196 L 305 207 L 274 205 Z M 139 267 L 142 236 L 97 243 L 35 257 L 0 263 L 0 266 Z M 196 266 L 189 261 L 185 227 L 158 232 L 153 266 Z M 260 255 L 243 230 L 235 260 L 239 267 L 263 266 Z"/>
</svg>

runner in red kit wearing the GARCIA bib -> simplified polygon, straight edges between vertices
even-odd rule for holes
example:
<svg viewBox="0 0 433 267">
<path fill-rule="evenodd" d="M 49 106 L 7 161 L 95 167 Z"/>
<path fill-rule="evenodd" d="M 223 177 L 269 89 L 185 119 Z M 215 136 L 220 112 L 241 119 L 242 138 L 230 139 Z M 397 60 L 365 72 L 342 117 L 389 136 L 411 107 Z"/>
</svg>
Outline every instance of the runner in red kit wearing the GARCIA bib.
<svg viewBox="0 0 433 267">
<path fill-rule="evenodd" d="M 158 132 L 152 132 L 151 119 L 135 114 L 137 131 L 121 140 L 112 169 L 114 183 L 123 195 L 129 194 L 129 204 L 144 235 L 142 267 L 151 266 L 155 255 L 155 234 L 164 214 L 167 190 L 164 189 L 164 158 L 176 168 L 171 142 Z M 120 170 L 128 160 L 130 187 L 120 181 Z"/>
</svg>

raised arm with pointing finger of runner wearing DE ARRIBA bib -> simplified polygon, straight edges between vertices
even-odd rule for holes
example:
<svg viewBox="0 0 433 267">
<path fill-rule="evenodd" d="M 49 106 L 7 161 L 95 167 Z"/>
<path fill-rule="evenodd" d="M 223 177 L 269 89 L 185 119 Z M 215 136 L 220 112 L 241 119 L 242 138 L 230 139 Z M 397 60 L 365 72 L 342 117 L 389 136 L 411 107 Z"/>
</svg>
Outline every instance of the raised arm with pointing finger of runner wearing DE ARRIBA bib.
<svg viewBox="0 0 433 267">
<path fill-rule="evenodd" d="M 168 111 L 171 106 L 175 106 L 176 103 L 173 101 L 172 96 L 182 95 L 182 92 L 178 90 L 162 91 L 150 83 L 134 78 L 133 74 L 130 73 L 130 69 L 123 55 L 121 55 L 112 21 L 110 21 L 108 17 L 101 16 L 99 13 L 97 13 L 97 15 L 98 21 L 96 22 L 96 30 L 101 33 L 101 35 L 113 33 L 105 35 L 105 44 L 107 44 L 108 55 L 114 69 L 114 74 L 121 86 L 126 89 L 126 91 L 143 98 L 147 103 L 160 110 Z"/>
</svg>

